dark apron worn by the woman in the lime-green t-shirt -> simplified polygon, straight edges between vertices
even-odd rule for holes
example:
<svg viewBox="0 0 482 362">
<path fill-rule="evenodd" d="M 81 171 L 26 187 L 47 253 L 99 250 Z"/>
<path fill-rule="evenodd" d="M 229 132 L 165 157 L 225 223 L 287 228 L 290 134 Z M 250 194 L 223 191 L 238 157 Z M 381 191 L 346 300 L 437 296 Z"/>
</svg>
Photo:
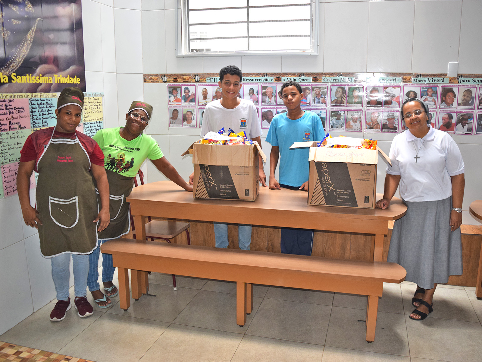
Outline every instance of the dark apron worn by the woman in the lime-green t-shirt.
<svg viewBox="0 0 482 362">
<path fill-rule="evenodd" d="M 125 200 L 131 194 L 134 186 L 134 178 L 122 176 L 117 172 L 106 169 L 107 180 L 109 181 L 109 211 L 110 224 L 106 229 L 98 233 L 99 240 L 117 239 L 129 232 L 131 218 L 129 217 L 129 203 Z M 95 180 L 94 180 L 95 181 Z M 97 188 L 99 205 L 101 200 Z"/>
</svg>

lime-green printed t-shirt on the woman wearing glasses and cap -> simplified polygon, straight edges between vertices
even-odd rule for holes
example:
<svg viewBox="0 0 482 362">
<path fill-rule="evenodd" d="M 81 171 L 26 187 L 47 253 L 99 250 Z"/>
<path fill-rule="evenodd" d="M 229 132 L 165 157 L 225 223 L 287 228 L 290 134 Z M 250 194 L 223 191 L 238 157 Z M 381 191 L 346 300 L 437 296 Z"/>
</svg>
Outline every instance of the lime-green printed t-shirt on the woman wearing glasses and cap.
<svg viewBox="0 0 482 362">
<path fill-rule="evenodd" d="M 104 167 L 122 176 L 134 177 L 146 158 L 158 160 L 164 156 L 158 143 L 141 133 L 132 141 L 123 139 L 120 127 L 100 129 L 93 139 L 104 153 Z"/>
</svg>

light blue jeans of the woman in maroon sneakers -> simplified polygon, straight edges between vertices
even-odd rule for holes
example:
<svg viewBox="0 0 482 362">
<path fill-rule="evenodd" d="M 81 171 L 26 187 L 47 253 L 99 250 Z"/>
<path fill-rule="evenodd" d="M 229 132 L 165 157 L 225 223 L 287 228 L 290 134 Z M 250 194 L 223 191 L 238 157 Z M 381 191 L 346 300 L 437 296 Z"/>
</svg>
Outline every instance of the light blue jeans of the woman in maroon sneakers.
<svg viewBox="0 0 482 362">
<path fill-rule="evenodd" d="M 87 296 L 89 255 L 65 253 L 50 258 L 57 300 L 68 300 L 69 297 L 70 255 L 72 255 L 72 269 L 74 271 L 74 294 L 76 297 Z"/>
</svg>

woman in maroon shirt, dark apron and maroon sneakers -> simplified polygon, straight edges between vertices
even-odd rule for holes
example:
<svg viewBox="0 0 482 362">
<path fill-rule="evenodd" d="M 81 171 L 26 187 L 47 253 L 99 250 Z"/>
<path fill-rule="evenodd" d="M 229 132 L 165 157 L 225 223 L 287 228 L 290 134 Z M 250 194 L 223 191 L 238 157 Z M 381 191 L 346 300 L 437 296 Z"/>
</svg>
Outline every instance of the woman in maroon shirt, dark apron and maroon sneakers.
<svg viewBox="0 0 482 362">
<path fill-rule="evenodd" d="M 65 318 L 70 309 L 69 265 L 73 261 L 75 308 L 88 317 L 93 308 L 86 298 L 89 255 L 97 246 L 97 231 L 109 224 L 109 186 L 104 157 L 93 139 L 76 131 L 84 95 L 65 88 L 57 101 L 57 125 L 32 133 L 21 151 L 17 187 L 27 225 L 39 229 L 40 251 L 52 264 L 57 303 L 50 320 Z M 30 205 L 30 177 L 39 173 L 37 208 Z M 101 195 L 102 209 L 94 181 Z"/>
</svg>

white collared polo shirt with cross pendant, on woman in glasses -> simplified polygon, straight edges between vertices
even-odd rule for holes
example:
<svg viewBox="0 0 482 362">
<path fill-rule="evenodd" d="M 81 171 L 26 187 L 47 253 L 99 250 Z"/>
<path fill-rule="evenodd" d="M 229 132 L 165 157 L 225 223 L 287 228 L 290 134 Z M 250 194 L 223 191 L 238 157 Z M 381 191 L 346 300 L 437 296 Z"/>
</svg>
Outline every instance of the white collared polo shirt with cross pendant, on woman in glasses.
<svg viewBox="0 0 482 362">
<path fill-rule="evenodd" d="M 454 139 L 428 126 L 422 139 L 407 129 L 393 138 L 390 147 L 392 166 L 387 166 L 387 173 L 401 176 L 400 195 L 405 201 L 446 199 L 452 195 L 450 177 L 464 173 L 464 161 Z"/>
</svg>

